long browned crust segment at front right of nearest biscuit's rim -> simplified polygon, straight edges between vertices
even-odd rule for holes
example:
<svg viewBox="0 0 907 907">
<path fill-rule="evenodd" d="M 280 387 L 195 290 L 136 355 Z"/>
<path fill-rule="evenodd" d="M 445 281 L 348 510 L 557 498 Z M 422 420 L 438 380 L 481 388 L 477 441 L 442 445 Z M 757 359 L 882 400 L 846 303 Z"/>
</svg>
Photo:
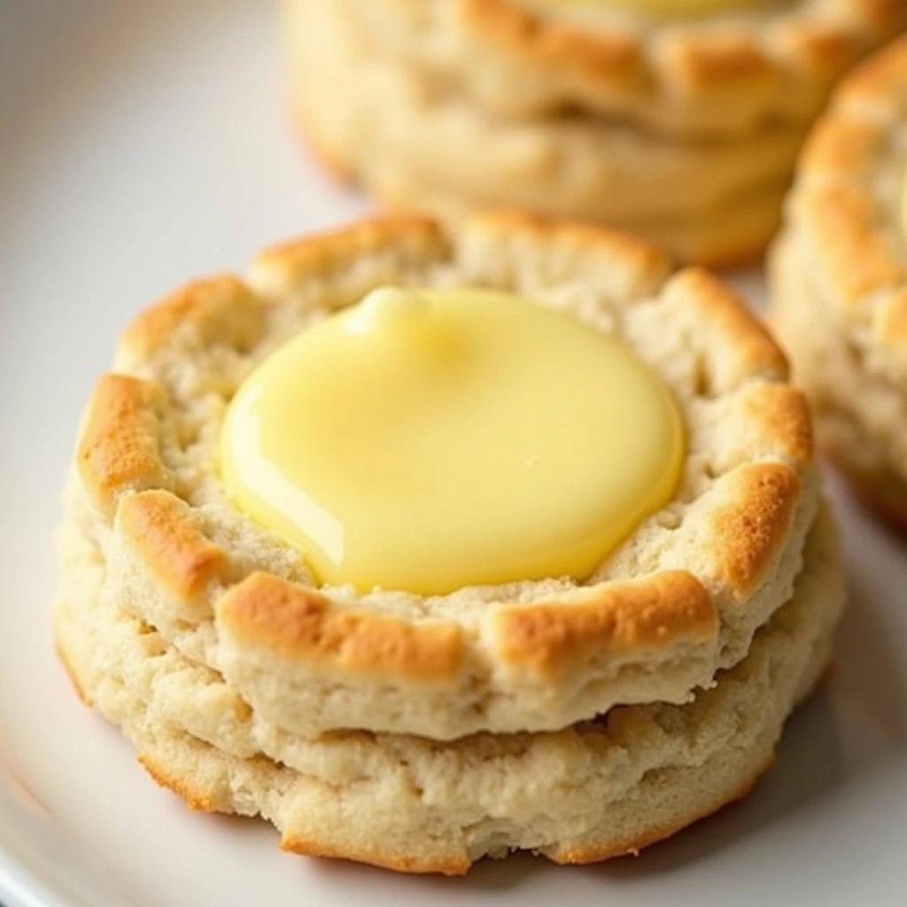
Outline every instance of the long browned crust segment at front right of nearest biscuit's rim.
<svg viewBox="0 0 907 907">
<path fill-rule="evenodd" d="M 493 626 L 503 662 L 553 677 L 597 652 L 651 651 L 715 639 L 718 616 L 696 577 L 670 571 L 599 587 L 581 601 L 503 608 Z"/>
</svg>

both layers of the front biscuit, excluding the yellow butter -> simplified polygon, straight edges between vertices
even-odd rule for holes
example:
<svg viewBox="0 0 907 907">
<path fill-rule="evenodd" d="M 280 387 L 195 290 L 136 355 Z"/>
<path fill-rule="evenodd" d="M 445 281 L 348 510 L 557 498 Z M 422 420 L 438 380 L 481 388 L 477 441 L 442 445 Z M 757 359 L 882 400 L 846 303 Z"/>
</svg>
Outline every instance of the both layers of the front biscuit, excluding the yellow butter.
<svg viewBox="0 0 907 907">
<path fill-rule="evenodd" d="M 677 493 L 589 580 L 317 587 L 229 502 L 219 430 L 240 382 L 387 284 L 520 293 L 668 382 Z M 636 240 L 504 213 L 359 224 L 148 309 L 85 414 L 59 558 L 63 662 L 162 785 L 264 816 L 288 850 L 410 872 L 604 859 L 745 794 L 843 603 L 805 401 L 763 328 Z"/>
</svg>

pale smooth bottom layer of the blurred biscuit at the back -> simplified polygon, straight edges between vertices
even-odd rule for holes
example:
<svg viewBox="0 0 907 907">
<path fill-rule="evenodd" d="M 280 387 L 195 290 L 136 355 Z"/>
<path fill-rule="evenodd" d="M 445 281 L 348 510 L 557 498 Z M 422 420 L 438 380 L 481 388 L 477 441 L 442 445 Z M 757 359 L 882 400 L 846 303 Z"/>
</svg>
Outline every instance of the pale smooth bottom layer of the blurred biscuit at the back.
<svg viewBox="0 0 907 907">
<path fill-rule="evenodd" d="M 806 122 L 690 141 L 626 118 L 514 121 L 382 53 L 340 5 L 288 16 L 297 118 L 334 171 L 395 208 L 488 205 L 606 222 L 685 261 L 757 257 L 774 233 Z"/>
</svg>

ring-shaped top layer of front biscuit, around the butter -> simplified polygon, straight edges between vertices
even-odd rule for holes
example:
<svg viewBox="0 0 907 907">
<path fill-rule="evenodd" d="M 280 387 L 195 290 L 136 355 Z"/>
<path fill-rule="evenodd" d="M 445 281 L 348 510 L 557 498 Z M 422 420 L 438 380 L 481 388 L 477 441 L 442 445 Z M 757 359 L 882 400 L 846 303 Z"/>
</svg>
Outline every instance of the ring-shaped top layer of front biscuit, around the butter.
<svg viewBox="0 0 907 907">
<path fill-rule="evenodd" d="M 672 501 L 586 582 L 431 598 L 316 588 L 303 554 L 229 501 L 220 426 L 269 351 L 382 284 L 507 289 L 619 336 L 684 415 Z M 818 502 L 805 399 L 727 288 L 673 273 L 638 240 L 508 212 L 457 229 L 365 222 L 270 249 L 246 280 L 165 298 L 97 385 L 66 496 L 102 552 L 102 597 L 221 673 L 257 715 L 299 736 L 436 740 L 691 701 L 790 598 Z"/>
</svg>

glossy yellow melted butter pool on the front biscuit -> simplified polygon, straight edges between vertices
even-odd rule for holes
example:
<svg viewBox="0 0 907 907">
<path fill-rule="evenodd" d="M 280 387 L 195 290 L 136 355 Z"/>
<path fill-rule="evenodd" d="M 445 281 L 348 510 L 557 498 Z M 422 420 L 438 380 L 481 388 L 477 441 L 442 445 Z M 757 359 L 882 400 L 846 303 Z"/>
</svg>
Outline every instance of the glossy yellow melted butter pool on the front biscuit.
<svg viewBox="0 0 907 907">
<path fill-rule="evenodd" d="M 297 335 L 239 388 L 221 447 L 239 508 L 319 580 L 424 595 L 586 578 L 684 453 L 626 346 L 483 289 L 376 289 Z"/>
</svg>

